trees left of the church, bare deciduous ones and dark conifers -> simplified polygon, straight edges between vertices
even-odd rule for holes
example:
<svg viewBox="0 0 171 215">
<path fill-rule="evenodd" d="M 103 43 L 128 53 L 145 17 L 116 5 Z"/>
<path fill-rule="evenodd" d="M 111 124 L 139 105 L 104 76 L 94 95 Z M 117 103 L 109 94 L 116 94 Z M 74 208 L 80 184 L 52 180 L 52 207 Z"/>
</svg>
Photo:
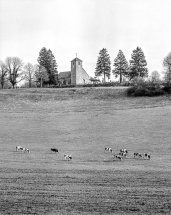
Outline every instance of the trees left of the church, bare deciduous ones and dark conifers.
<svg viewBox="0 0 171 215">
<path fill-rule="evenodd" d="M 0 84 L 3 89 L 7 86 L 15 86 L 25 80 L 28 87 L 33 84 L 42 87 L 44 84 L 56 85 L 58 83 L 58 66 L 50 49 L 43 47 L 37 59 L 38 64 L 24 64 L 19 57 L 7 57 L 0 61 Z"/>
</svg>

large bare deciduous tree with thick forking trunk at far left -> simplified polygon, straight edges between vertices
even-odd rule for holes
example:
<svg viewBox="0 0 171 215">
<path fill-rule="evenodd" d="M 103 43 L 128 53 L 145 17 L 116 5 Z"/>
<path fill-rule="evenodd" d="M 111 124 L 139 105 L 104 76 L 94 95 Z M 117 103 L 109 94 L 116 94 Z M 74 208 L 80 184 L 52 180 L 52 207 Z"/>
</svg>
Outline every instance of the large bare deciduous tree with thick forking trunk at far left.
<svg viewBox="0 0 171 215">
<path fill-rule="evenodd" d="M 14 88 L 17 83 L 24 79 L 22 73 L 23 61 L 18 57 L 7 57 L 5 65 L 9 75 L 9 81 Z"/>
</svg>

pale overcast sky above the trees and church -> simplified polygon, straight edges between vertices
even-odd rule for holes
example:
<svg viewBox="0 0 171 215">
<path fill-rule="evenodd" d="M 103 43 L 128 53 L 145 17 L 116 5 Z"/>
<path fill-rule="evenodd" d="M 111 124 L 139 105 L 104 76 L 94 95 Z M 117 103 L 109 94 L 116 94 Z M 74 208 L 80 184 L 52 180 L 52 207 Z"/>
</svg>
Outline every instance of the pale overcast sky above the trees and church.
<svg viewBox="0 0 171 215">
<path fill-rule="evenodd" d="M 0 0 L 0 60 L 37 63 L 42 47 L 55 55 L 58 71 L 83 60 L 94 76 L 106 48 L 113 61 L 121 49 L 129 61 L 142 48 L 149 72 L 162 72 L 171 52 L 171 0 Z"/>
</svg>

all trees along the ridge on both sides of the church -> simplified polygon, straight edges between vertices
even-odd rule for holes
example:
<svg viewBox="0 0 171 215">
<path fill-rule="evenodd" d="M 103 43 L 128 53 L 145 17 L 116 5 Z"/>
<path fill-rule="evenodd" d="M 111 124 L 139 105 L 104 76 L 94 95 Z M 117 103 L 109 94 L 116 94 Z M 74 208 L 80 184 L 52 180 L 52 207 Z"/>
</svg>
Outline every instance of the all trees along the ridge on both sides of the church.
<svg viewBox="0 0 171 215">
<path fill-rule="evenodd" d="M 0 61 L 0 85 L 3 89 L 5 85 L 11 85 L 13 88 L 25 80 L 28 87 L 43 85 L 58 85 L 58 65 L 54 54 L 50 49 L 43 47 L 37 59 L 38 64 L 27 63 L 18 57 L 7 57 L 5 61 Z M 119 50 L 113 62 L 114 69 L 111 71 L 110 56 L 106 48 L 99 52 L 97 64 L 95 68 L 95 77 L 103 75 L 103 81 L 106 82 L 106 77 L 110 79 L 111 72 L 115 78 L 119 77 L 120 83 L 123 79 L 133 80 L 136 78 L 148 77 L 148 68 L 145 55 L 140 47 L 133 50 L 131 60 L 125 58 L 122 50 Z M 171 52 L 163 60 L 164 79 L 166 82 L 171 82 Z M 160 74 L 153 71 L 151 79 L 159 80 Z"/>
</svg>

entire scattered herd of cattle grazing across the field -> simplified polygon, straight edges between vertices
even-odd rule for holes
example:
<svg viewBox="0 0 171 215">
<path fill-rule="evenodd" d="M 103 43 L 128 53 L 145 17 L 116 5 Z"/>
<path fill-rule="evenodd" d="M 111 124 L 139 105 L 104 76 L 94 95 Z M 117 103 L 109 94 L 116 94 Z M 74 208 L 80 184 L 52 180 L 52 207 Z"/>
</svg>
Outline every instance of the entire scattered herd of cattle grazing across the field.
<svg viewBox="0 0 171 215">
<path fill-rule="evenodd" d="M 56 148 L 51 148 L 50 149 L 52 152 L 59 152 L 58 149 Z M 16 151 L 23 151 L 23 152 L 26 152 L 26 153 L 30 153 L 30 150 L 27 149 L 27 148 L 24 148 L 22 146 L 16 146 Z M 118 154 L 114 154 L 112 148 L 105 148 L 105 152 L 109 152 L 109 153 L 112 153 L 114 155 L 114 159 L 116 160 L 122 160 L 123 158 L 127 158 L 127 155 L 128 155 L 128 150 L 127 149 L 120 149 L 119 153 Z M 64 158 L 65 160 L 72 160 L 72 156 L 71 155 L 64 155 Z M 148 159 L 150 160 L 150 154 L 148 153 L 139 153 L 139 152 L 134 152 L 134 158 L 144 158 L 144 159 Z"/>
</svg>

